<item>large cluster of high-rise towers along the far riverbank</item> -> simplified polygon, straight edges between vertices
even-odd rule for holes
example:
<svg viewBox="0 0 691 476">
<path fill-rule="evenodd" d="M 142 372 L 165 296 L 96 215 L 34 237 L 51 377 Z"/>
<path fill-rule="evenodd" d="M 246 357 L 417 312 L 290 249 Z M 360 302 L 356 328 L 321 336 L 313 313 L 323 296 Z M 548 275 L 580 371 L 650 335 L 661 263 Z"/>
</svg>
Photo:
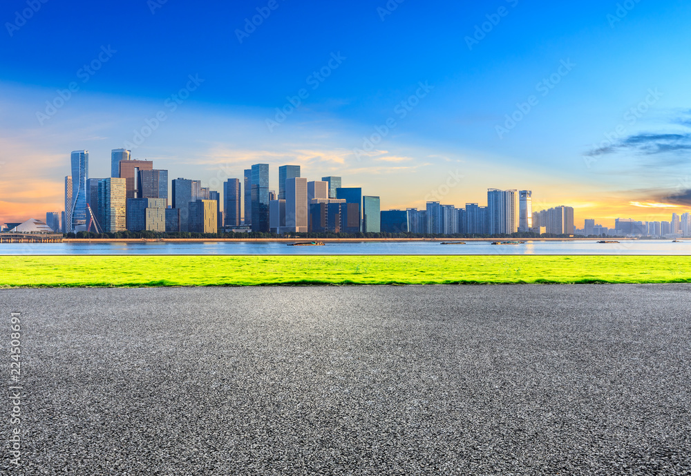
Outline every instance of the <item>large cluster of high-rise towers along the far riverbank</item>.
<svg viewBox="0 0 691 476">
<path fill-rule="evenodd" d="M 343 187 L 341 177 L 309 181 L 301 177 L 299 165 L 278 167 L 277 194 L 269 190 L 269 164 L 254 164 L 241 178 L 223 182 L 223 195 L 202 187 L 200 180 L 169 181 L 167 170 L 155 169 L 150 160 L 134 160 L 126 149 L 111 151 L 108 178 L 89 178 L 88 151 L 73 151 L 70 166 L 65 211 L 46 214 L 46 225 L 64 233 L 575 233 L 573 208 L 533 212 L 529 190 L 489 189 L 486 206 L 427 202 L 423 210 L 382 211 L 378 196 Z"/>
</svg>

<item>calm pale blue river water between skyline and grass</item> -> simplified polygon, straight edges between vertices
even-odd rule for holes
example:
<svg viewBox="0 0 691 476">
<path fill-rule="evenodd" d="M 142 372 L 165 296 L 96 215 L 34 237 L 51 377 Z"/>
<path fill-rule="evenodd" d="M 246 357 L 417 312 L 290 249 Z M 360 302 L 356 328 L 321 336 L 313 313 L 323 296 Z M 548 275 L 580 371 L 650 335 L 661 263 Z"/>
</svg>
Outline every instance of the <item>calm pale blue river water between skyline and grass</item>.
<svg viewBox="0 0 691 476">
<path fill-rule="evenodd" d="M 619 244 L 600 244 L 597 240 L 542 241 L 530 240 L 524 245 L 491 245 L 490 241 L 468 241 L 466 245 L 440 245 L 439 242 L 345 242 L 325 246 L 292 247 L 277 242 L 107 242 L 107 243 L 36 243 L 1 244 L 0 255 L 276 255 L 276 254 L 352 254 L 352 255 L 463 255 L 463 254 L 691 254 L 691 239 L 674 243 L 672 240 L 632 240 Z"/>
</svg>

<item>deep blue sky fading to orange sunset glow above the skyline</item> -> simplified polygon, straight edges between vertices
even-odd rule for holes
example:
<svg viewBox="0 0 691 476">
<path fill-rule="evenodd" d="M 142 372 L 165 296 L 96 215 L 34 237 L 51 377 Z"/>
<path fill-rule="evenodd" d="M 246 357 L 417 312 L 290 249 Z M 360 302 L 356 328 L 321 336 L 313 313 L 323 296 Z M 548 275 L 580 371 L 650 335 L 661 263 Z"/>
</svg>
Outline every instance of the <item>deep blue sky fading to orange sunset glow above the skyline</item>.
<svg viewBox="0 0 691 476">
<path fill-rule="evenodd" d="M 100 177 L 122 146 L 216 189 L 256 162 L 276 187 L 278 165 L 298 163 L 384 209 L 484 203 L 498 187 L 533 189 L 538 209 L 570 204 L 577 225 L 685 211 L 688 3 L 10 0 L 0 11 L 0 220 L 61 209 L 70 151 L 88 149 Z"/>
</svg>

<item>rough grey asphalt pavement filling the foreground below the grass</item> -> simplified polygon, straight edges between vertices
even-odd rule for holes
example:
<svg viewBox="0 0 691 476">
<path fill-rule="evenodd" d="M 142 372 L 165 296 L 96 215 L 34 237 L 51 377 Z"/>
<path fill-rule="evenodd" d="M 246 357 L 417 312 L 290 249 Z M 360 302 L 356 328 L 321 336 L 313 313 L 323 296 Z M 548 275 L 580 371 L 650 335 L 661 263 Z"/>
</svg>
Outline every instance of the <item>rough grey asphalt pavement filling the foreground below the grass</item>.
<svg viewBox="0 0 691 476">
<path fill-rule="evenodd" d="M 688 475 L 690 310 L 688 285 L 2 290 L 0 473 Z"/>
</svg>

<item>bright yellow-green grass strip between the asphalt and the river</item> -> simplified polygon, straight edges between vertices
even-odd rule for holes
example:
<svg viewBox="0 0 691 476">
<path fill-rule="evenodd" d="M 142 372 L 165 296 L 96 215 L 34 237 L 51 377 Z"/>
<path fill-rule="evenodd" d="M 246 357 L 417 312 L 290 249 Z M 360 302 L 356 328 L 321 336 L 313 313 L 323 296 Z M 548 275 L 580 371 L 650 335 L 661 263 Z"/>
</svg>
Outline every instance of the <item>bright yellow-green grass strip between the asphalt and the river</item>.
<svg viewBox="0 0 691 476">
<path fill-rule="evenodd" d="M 0 287 L 691 283 L 691 256 L 0 256 Z"/>
</svg>

